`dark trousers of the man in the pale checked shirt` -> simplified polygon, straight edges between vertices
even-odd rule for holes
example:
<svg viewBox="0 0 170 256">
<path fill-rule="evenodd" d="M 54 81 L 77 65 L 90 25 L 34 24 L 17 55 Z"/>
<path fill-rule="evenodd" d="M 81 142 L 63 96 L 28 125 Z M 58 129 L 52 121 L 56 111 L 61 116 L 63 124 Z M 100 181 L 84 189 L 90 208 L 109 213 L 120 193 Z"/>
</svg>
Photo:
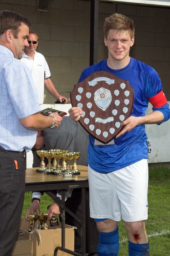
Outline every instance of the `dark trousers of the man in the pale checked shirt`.
<svg viewBox="0 0 170 256">
<path fill-rule="evenodd" d="M 17 237 L 25 194 L 25 166 L 22 153 L 0 149 L 0 256 L 11 255 Z"/>
</svg>

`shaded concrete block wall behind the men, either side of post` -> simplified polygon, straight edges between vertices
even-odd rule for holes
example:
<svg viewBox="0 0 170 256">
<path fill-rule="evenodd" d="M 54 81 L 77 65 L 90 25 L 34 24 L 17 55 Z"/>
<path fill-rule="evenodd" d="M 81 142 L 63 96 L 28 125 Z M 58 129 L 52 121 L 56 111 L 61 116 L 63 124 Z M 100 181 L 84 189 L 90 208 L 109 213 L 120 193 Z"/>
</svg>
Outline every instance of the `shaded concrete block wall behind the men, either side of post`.
<svg viewBox="0 0 170 256">
<path fill-rule="evenodd" d="M 59 93 L 69 97 L 74 84 L 89 66 L 90 1 L 51 0 L 48 11 L 36 11 L 37 0 L 0 0 L 0 10 L 16 11 L 31 21 L 39 36 L 37 51 L 46 57 L 51 79 Z M 135 43 L 131 56 L 156 69 L 170 101 L 170 8 L 99 2 L 98 61 L 107 58 L 103 22 L 114 12 L 131 17 Z M 56 99 L 45 90 L 44 103 Z"/>
</svg>

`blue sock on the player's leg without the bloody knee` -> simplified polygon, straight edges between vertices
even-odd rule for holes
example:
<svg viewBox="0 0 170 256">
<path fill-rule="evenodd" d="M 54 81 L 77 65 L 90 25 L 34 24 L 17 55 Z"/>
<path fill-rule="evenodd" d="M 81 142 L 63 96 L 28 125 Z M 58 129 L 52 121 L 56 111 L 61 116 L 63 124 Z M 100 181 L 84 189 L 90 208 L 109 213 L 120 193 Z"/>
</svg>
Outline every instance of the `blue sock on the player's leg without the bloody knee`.
<svg viewBox="0 0 170 256">
<path fill-rule="evenodd" d="M 118 227 L 113 232 L 99 232 L 98 256 L 117 256 L 118 251 Z"/>
</svg>

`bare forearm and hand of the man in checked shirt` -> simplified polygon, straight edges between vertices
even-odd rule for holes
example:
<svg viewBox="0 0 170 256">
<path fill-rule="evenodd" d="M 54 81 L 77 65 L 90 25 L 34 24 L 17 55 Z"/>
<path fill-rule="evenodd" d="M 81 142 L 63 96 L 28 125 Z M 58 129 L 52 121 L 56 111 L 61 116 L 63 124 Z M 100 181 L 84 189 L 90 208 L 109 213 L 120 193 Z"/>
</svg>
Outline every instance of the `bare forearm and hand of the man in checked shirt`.
<svg viewBox="0 0 170 256">
<path fill-rule="evenodd" d="M 42 115 L 41 113 L 36 113 L 31 116 L 21 118 L 20 123 L 29 130 L 42 131 L 52 126 L 52 117 L 54 117 L 56 121 L 56 124 L 54 126 L 54 128 L 56 128 L 62 122 L 62 117 L 60 117 L 57 112 L 54 112 L 49 116 Z"/>
</svg>

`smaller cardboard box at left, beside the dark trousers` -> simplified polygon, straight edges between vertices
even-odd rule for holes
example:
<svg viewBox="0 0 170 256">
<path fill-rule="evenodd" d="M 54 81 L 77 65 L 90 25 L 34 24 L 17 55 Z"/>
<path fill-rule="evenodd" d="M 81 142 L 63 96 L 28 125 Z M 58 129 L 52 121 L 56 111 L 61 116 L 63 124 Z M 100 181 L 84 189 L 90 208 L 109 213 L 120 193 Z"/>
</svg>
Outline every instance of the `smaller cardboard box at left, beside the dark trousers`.
<svg viewBox="0 0 170 256">
<path fill-rule="evenodd" d="M 33 236 L 30 232 L 19 229 L 11 256 L 32 256 L 32 240 Z"/>
</svg>

